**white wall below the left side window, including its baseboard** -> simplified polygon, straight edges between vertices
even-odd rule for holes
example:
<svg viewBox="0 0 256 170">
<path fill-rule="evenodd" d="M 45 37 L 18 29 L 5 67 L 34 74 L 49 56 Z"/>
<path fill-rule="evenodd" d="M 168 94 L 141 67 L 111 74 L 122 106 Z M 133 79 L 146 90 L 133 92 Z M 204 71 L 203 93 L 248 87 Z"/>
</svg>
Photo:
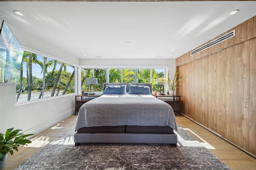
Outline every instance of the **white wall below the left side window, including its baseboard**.
<svg viewBox="0 0 256 170">
<path fill-rule="evenodd" d="M 14 86 L 0 86 L 0 132 L 14 127 L 37 134 L 74 114 L 75 95 L 16 105 L 15 93 Z"/>
</svg>

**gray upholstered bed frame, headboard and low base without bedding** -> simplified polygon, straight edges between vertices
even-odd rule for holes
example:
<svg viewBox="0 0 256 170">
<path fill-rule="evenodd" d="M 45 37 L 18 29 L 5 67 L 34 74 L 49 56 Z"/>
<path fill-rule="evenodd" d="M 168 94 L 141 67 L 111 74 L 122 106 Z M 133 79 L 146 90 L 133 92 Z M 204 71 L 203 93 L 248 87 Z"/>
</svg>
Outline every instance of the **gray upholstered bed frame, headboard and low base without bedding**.
<svg viewBox="0 0 256 170">
<path fill-rule="evenodd" d="M 126 85 L 128 92 L 130 83 L 103 83 L 107 85 Z M 149 86 L 152 83 L 131 83 Z M 116 127 L 84 127 L 74 134 L 75 145 L 81 143 L 160 143 L 177 146 L 177 135 L 171 127 L 164 126 L 116 126 Z"/>
</svg>

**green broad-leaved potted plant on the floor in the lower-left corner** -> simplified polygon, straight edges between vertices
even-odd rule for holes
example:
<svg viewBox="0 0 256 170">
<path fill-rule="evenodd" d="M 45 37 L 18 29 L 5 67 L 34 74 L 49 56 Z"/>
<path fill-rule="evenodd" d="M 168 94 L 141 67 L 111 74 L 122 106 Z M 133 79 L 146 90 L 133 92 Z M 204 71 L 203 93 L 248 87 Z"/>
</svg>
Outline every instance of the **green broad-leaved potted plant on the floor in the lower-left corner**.
<svg viewBox="0 0 256 170">
<path fill-rule="evenodd" d="M 8 152 L 12 155 L 13 150 L 18 151 L 20 145 L 27 145 L 28 143 L 31 143 L 30 140 L 26 139 L 26 137 L 34 135 L 19 133 L 21 129 L 13 129 L 14 128 L 9 128 L 6 130 L 5 134 L 0 134 L 0 169 L 4 168 Z"/>
</svg>

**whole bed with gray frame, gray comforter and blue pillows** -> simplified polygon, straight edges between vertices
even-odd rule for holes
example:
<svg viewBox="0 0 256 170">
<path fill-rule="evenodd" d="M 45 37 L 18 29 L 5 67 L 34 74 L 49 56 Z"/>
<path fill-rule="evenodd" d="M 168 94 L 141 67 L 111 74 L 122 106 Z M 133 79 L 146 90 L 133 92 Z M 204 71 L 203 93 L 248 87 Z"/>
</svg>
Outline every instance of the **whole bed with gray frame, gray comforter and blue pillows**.
<svg viewBox="0 0 256 170">
<path fill-rule="evenodd" d="M 81 143 L 176 146 L 174 111 L 170 105 L 152 96 L 151 83 L 104 83 L 103 89 L 100 97 L 86 102 L 78 112 L 74 134 L 76 146 Z"/>
</svg>

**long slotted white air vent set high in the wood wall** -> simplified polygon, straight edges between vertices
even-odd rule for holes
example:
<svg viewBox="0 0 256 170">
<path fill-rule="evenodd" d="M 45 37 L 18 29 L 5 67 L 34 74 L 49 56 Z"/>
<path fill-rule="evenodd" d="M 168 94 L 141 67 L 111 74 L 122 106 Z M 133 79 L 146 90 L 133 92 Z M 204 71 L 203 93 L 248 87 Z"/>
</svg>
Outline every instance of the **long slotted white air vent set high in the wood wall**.
<svg viewBox="0 0 256 170">
<path fill-rule="evenodd" d="M 209 48 L 209 47 L 211 47 L 211 46 L 213 46 L 213 45 L 215 45 L 217 43 L 220 43 L 220 42 L 223 42 L 225 40 L 228 40 L 229 38 L 234 37 L 234 36 L 235 36 L 235 30 L 229 32 L 228 34 L 225 34 L 224 36 L 221 36 L 221 37 L 217 38 L 216 40 L 213 40 L 210 43 L 205 44 L 204 46 L 202 46 L 202 47 L 200 47 L 200 48 L 198 48 L 198 49 L 196 49 L 194 51 L 191 51 L 190 55 L 194 55 L 195 53 L 203 51 L 204 49 L 207 49 L 207 48 Z"/>
</svg>

